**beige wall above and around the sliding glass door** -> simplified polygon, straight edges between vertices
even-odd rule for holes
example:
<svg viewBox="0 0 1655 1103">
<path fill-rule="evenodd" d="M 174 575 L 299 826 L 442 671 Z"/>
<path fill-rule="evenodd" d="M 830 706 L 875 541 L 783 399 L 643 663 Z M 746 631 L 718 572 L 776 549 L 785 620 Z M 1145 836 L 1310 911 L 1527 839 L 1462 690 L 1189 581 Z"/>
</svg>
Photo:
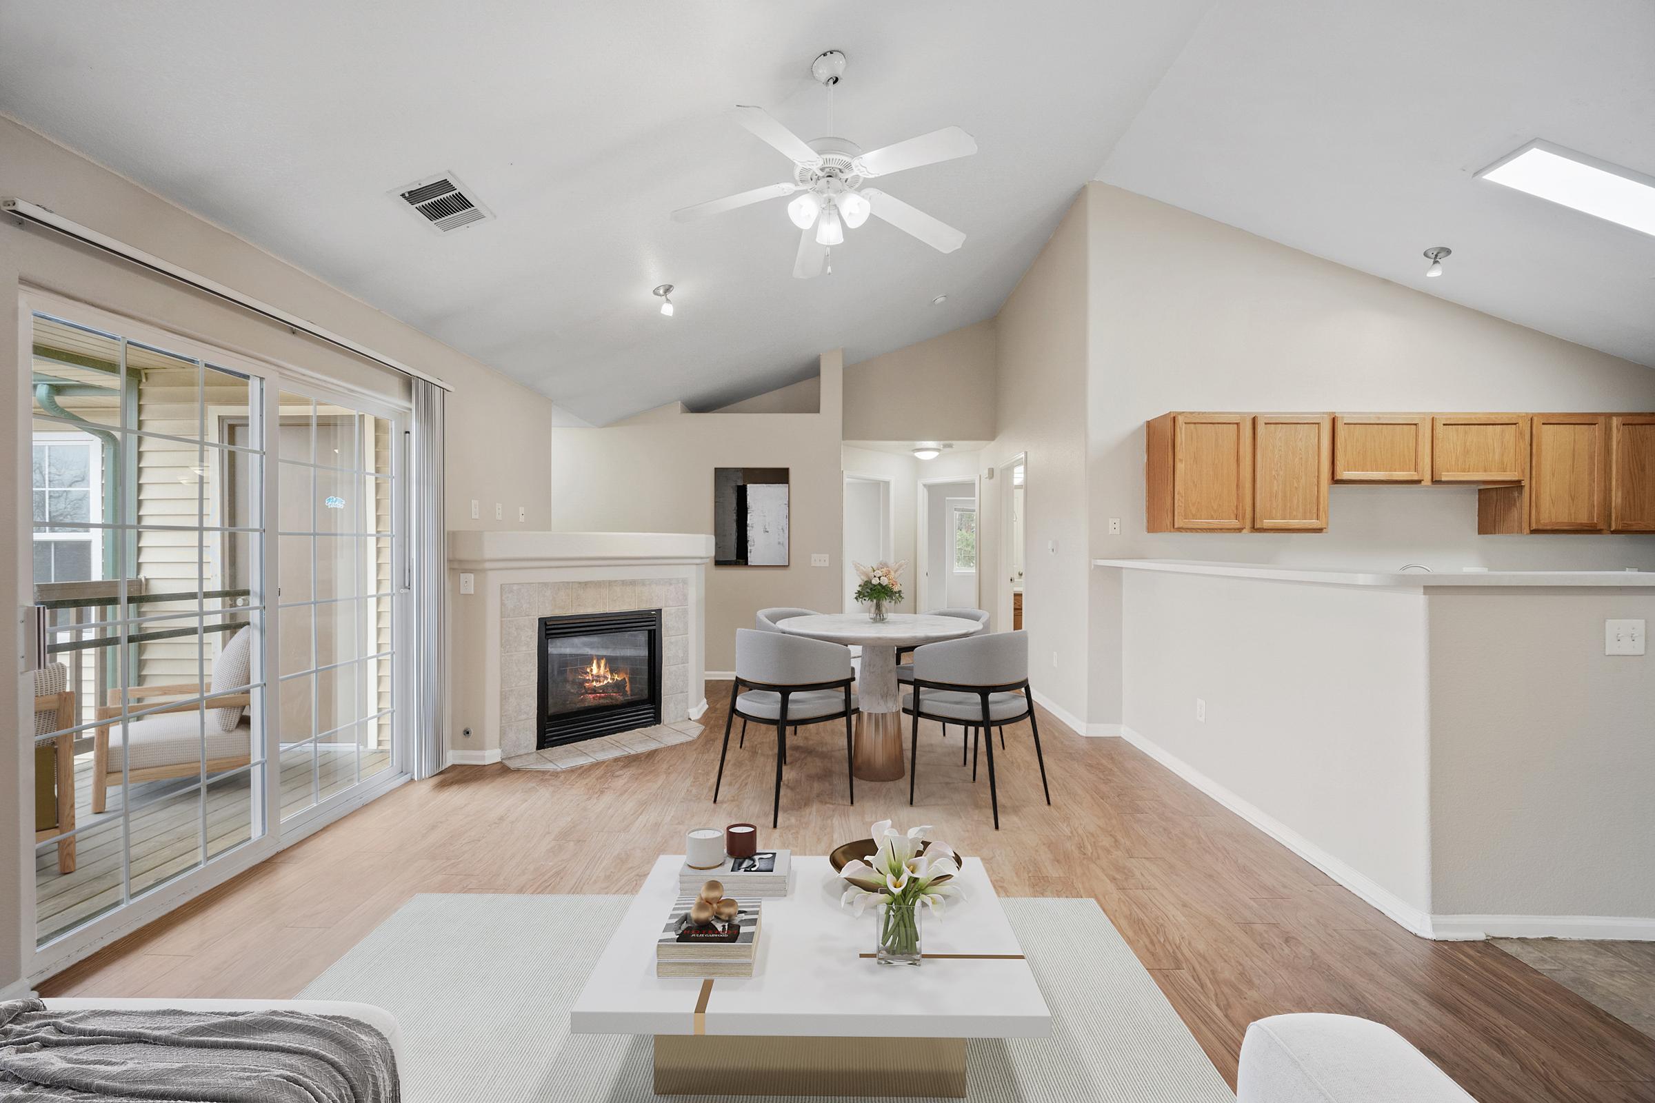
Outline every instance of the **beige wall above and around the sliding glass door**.
<svg viewBox="0 0 1655 1103">
<path fill-rule="evenodd" d="M 493 511 L 470 519 L 468 499 L 510 503 L 505 526 L 516 524 L 516 504 L 528 506 L 528 528 L 549 523 L 546 432 L 551 403 L 477 361 L 397 322 L 225 230 L 142 190 L 132 182 L 0 117 L 0 195 L 25 198 L 172 263 L 199 271 L 253 298 L 308 318 L 334 332 L 417 365 L 455 387 L 449 399 L 449 518 L 452 528 L 493 526 Z M 212 296 L 146 275 L 124 261 L 38 228 L 0 223 L 0 294 L 17 303 L 20 284 L 76 298 L 94 306 L 184 332 L 185 336 L 309 369 L 374 392 L 401 395 L 399 375 L 357 361 L 318 341 L 296 336 Z M 0 387 L 0 418 L 13 427 L 12 446 L 0 451 L 0 485 L 12 486 L 0 577 L 10 580 L 12 605 L 30 602 L 26 514 L 18 498 L 26 463 L 26 407 L 20 403 L 28 365 L 17 362 L 15 306 L 0 311 L 0 362 L 10 387 Z M 15 680 L 0 680 L 0 709 L 22 718 Z M 26 729 L 20 728 L 20 729 Z M 18 756 L 0 756 L 0 794 L 18 792 Z M 17 883 L 23 815 L 5 799 L 0 817 L 0 885 Z M 10 900 L 10 893 L 7 895 Z M 22 916 L 0 908 L 0 989 L 18 976 Z"/>
</svg>

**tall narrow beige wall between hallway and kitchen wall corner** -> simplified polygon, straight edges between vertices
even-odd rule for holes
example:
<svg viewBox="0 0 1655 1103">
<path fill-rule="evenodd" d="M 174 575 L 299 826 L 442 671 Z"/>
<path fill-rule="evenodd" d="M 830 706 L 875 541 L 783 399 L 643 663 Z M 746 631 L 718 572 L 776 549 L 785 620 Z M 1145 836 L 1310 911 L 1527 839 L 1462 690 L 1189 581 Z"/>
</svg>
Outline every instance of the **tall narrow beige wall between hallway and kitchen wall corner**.
<svg viewBox="0 0 1655 1103">
<path fill-rule="evenodd" d="M 1046 248 L 1023 275 L 996 319 L 998 428 L 983 466 L 1003 468 L 1028 453 L 1023 627 L 1029 637 L 1029 681 L 1044 701 L 1086 718 L 1087 534 L 1086 359 L 1087 202 L 1081 192 Z M 1008 478 L 983 483 L 978 521 L 983 609 L 1001 587 L 1000 499 Z M 1049 547 L 1056 551 L 1049 551 Z M 996 625 L 1010 628 L 1010 623 Z M 1058 661 L 1053 663 L 1056 653 Z"/>
</svg>

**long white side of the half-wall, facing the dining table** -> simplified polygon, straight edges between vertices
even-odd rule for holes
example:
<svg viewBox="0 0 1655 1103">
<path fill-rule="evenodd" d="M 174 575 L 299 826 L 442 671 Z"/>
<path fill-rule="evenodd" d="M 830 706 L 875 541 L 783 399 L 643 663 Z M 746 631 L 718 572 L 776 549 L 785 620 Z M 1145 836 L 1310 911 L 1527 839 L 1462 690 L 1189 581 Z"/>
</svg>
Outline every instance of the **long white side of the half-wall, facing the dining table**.
<svg viewBox="0 0 1655 1103">
<path fill-rule="evenodd" d="M 1425 597 L 1119 574 L 1127 729 L 1430 913 Z"/>
</svg>

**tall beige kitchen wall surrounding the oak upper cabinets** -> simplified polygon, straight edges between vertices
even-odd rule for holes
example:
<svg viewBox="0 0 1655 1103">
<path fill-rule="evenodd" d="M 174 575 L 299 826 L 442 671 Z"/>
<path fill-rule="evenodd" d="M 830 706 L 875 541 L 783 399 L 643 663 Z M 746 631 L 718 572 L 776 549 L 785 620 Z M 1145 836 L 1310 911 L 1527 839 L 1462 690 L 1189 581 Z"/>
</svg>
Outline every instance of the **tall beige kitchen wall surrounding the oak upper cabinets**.
<svg viewBox="0 0 1655 1103">
<path fill-rule="evenodd" d="M 1478 536 L 1470 486 L 1336 486 L 1317 534 L 1147 534 L 1144 422 L 1167 410 L 1652 410 L 1655 370 L 1132 192 L 1087 192 L 1094 557 L 1655 567 L 1643 536 Z M 1120 580 L 1092 574 L 1089 719 L 1114 723 Z"/>
</svg>

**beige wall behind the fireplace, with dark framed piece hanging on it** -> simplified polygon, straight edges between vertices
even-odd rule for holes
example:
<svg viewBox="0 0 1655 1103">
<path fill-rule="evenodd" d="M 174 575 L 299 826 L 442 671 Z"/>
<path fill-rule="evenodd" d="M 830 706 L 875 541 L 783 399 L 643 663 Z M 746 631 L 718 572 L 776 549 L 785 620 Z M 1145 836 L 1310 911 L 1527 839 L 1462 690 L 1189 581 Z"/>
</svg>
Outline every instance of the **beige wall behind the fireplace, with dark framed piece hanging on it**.
<svg viewBox="0 0 1655 1103">
<path fill-rule="evenodd" d="M 559 532 L 712 532 L 713 468 L 789 468 L 786 567 L 707 569 L 707 670 L 735 666 L 735 630 L 770 605 L 837 612 L 842 551 L 842 354 L 821 357 L 819 413 L 684 413 L 664 408 L 604 428 L 553 428 Z M 828 552 L 829 567 L 811 567 Z"/>
</svg>

